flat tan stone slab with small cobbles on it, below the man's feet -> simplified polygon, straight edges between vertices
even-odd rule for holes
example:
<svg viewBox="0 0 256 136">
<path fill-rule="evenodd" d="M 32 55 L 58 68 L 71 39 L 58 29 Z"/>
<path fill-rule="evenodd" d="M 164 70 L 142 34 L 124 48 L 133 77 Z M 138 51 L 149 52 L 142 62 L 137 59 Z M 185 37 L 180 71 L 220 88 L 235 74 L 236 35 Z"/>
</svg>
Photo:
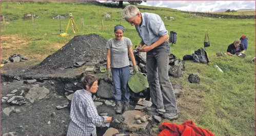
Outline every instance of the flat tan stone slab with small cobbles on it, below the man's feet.
<svg viewBox="0 0 256 136">
<path fill-rule="evenodd" d="M 124 112 L 123 116 L 125 117 L 125 121 L 121 124 L 121 129 L 123 131 L 128 130 L 132 132 L 137 132 L 140 129 L 146 130 L 148 121 L 142 122 L 141 124 L 136 124 L 136 120 L 134 120 L 136 115 L 144 116 L 144 114 L 139 110 L 128 110 Z"/>
</svg>

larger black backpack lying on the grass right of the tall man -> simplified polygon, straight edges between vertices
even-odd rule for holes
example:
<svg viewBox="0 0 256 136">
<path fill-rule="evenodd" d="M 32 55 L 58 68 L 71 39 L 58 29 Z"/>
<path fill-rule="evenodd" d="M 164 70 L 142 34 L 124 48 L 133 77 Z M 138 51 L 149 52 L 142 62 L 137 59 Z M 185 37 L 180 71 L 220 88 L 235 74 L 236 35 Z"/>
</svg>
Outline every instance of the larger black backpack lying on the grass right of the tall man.
<svg viewBox="0 0 256 136">
<path fill-rule="evenodd" d="M 203 48 L 200 48 L 193 52 L 193 61 L 198 63 L 209 63 L 209 59 L 207 57 L 207 53 Z"/>
</svg>

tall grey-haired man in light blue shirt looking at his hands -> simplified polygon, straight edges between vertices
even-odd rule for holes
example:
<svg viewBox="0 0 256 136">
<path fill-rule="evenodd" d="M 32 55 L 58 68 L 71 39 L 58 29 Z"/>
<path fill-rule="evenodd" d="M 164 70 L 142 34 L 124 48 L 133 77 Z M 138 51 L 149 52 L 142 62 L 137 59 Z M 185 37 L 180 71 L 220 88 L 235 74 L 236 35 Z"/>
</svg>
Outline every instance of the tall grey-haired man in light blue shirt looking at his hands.
<svg viewBox="0 0 256 136">
<path fill-rule="evenodd" d="M 178 109 L 173 88 L 168 76 L 170 47 L 168 31 L 161 17 L 153 13 L 141 13 L 133 5 L 126 6 L 122 17 L 131 24 L 141 37 L 139 52 L 147 52 L 147 79 L 152 106 L 148 111 L 165 112 L 163 118 L 178 119 Z M 165 110 L 164 110 L 165 108 Z"/>
</svg>

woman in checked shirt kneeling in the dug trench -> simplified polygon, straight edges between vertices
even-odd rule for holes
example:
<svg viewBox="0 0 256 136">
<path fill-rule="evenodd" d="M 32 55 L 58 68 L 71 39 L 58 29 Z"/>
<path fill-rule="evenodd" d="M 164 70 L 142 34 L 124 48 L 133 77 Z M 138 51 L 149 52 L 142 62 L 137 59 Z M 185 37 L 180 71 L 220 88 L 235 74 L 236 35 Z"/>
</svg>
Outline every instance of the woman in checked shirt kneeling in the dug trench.
<svg viewBox="0 0 256 136">
<path fill-rule="evenodd" d="M 76 90 L 70 109 L 71 122 L 67 135 L 96 135 L 97 127 L 109 127 L 110 122 L 121 123 L 125 119 L 122 115 L 113 117 L 99 116 L 92 100 L 92 93 L 98 89 L 98 81 L 94 75 L 82 78 L 83 89 Z"/>
</svg>

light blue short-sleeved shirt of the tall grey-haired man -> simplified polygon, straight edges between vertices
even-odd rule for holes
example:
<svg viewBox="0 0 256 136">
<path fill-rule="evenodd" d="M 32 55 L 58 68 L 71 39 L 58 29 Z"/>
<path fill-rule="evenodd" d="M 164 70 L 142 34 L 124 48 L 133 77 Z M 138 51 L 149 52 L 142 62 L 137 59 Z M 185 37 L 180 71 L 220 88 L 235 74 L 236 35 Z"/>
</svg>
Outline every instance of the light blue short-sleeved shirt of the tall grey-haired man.
<svg viewBox="0 0 256 136">
<path fill-rule="evenodd" d="M 154 13 L 141 13 L 142 25 L 135 26 L 137 33 L 143 40 L 143 42 L 150 46 L 157 41 L 161 36 L 168 34 L 165 29 L 165 24 L 162 18 Z"/>
</svg>

